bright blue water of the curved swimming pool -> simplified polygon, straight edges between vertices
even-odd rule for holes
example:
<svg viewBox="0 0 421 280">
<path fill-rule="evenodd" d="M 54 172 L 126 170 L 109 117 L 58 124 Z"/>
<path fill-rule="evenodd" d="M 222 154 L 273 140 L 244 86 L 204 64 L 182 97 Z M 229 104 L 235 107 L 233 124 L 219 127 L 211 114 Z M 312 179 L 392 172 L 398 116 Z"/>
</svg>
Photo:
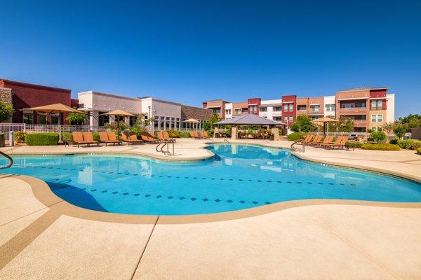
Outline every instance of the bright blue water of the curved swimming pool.
<svg viewBox="0 0 421 280">
<path fill-rule="evenodd" d="M 413 181 L 315 164 L 278 148 L 212 144 L 208 149 L 215 158 L 199 162 L 22 156 L 2 172 L 38 177 L 79 207 L 125 214 L 207 214 L 312 198 L 421 202 L 421 185 Z"/>
</svg>

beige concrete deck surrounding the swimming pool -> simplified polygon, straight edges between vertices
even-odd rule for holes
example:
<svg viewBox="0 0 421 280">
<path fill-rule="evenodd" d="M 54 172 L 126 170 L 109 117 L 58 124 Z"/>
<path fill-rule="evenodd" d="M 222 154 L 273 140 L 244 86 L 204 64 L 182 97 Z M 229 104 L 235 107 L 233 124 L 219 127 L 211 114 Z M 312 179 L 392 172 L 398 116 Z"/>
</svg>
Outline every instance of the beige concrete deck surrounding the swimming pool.
<svg viewBox="0 0 421 280">
<path fill-rule="evenodd" d="M 208 158 L 206 142 L 179 139 L 173 159 Z M 0 151 L 160 158 L 154 145 Z M 298 156 L 421 181 L 414 151 Z M 28 176 L 2 175 L 0 188 L 0 279 L 421 279 L 421 204 L 303 200 L 174 218 L 74 207 Z"/>
</svg>

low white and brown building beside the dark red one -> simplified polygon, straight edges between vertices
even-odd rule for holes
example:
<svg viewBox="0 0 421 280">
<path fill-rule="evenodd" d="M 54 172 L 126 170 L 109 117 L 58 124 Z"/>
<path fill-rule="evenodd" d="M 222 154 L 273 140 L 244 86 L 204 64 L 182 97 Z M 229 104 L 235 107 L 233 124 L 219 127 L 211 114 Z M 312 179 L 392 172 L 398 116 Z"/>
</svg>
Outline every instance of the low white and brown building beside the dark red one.
<svg viewBox="0 0 421 280">
<path fill-rule="evenodd" d="M 114 117 L 103 116 L 103 113 L 117 109 L 126 111 L 136 117 L 124 118 L 130 125 L 135 123 L 140 114 L 145 119 L 152 118 L 149 130 L 182 130 L 201 129 L 203 122 L 213 114 L 210 109 L 187 106 L 180 103 L 168 102 L 154 97 L 124 97 L 105 92 L 79 92 L 79 110 L 86 111 L 91 127 L 102 127 L 105 123 L 114 123 Z M 194 126 L 185 120 L 194 118 L 199 120 Z"/>
</svg>

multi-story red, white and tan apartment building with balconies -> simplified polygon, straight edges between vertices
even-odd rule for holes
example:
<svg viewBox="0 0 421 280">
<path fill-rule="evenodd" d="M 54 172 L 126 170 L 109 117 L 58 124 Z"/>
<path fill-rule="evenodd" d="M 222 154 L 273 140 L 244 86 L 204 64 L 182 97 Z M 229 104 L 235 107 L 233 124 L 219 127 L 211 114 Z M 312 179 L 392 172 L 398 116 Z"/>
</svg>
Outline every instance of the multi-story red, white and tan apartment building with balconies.
<svg viewBox="0 0 421 280">
<path fill-rule="evenodd" d="M 222 99 L 203 102 L 203 108 L 213 109 L 221 118 L 234 118 L 244 113 L 255 113 L 264 118 L 278 120 L 288 125 L 300 115 L 312 118 L 330 116 L 354 120 L 354 131 L 377 130 L 394 121 L 394 94 L 388 87 L 355 87 L 340 90 L 335 95 L 322 97 L 297 97 L 283 95 L 281 99 L 262 100 L 249 98 L 245 102 L 227 102 Z"/>
</svg>

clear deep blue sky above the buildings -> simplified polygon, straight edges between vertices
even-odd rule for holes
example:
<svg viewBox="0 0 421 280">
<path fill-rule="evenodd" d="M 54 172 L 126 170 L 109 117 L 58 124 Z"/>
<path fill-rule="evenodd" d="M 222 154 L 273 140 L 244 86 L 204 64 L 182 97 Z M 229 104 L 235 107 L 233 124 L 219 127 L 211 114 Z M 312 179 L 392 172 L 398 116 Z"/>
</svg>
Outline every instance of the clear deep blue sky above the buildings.
<svg viewBox="0 0 421 280">
<path fill-rule="evenodd" d="M 380 85 L 421 113 L 421 1 L 132 2 L 0 0 L 0 77 L 196 106 Z"/>
</svg>

